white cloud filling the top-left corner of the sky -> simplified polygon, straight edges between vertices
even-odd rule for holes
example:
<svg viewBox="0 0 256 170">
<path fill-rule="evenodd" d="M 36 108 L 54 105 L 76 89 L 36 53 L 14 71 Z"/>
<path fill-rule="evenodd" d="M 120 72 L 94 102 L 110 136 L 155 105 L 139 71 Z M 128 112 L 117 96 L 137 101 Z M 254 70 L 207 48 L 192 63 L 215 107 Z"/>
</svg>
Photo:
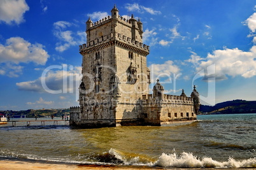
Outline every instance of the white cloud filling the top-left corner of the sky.
<svg viewBox="0 0 256 170">
<path fill-rule="evenodd" d="M 29 10 L 25 0 L 1 0 L 0 21 L 6 24 L 20 24 L 24 22 L 24 13 Z"/>
</svg>

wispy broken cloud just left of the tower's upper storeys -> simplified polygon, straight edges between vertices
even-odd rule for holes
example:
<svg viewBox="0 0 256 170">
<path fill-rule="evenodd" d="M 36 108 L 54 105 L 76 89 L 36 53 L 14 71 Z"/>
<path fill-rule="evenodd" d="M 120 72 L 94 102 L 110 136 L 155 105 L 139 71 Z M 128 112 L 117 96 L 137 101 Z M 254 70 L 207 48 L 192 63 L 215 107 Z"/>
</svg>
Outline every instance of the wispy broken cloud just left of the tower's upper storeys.
<svg viewBox="0 0 256 170">
<path fill-rule="evenodd" d="M 58 52 L 64 52 L 71 46 L 81 45 L 86 42 L 85 32 L 66 30 L 68 27 L 72 26 L 76 26 L 76 24 L 67 21 L 58 21 L 53 23 L 53 34 L 59 40 L 55 47 L 55 50 Z"/>
</svg>

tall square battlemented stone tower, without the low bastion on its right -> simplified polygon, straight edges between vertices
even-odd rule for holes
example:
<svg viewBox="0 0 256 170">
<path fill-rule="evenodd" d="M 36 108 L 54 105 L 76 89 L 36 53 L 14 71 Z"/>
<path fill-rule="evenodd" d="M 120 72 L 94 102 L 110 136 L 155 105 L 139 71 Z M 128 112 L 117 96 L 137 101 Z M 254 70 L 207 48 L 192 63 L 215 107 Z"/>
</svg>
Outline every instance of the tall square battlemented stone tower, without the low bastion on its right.
<svg viewBox="0 0 256 170">
<path fill-rule="evenodd" d="M 82 83 L 80 108 L 71 125 L 110 127 L 141 122 L 142 95 L 148 94 L 149 46 L 143 44 L 143 24 L 132 15 L 120 17 L 116 6 L 111 17 L 86 22 L 87 43 L 80 45 Z M 73 113 L 75 113 L 73 112 Z"/>
</svg>

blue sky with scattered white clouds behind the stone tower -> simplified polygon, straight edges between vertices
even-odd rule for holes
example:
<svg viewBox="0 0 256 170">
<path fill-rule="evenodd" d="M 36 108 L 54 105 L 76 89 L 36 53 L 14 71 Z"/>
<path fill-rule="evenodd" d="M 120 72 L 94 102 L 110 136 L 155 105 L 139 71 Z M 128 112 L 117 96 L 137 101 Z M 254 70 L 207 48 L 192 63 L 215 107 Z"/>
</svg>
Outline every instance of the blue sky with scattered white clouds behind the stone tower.
<svg viewBox="0 0 256 170">
<path fill-rule="evenodd" d="M 85 22 L 114 4 L 143 22 L 152 85 L 187 96 L 196 85 L 208 104 L 256 100 L 256 1 L 1 0 L 0 110 L 78 106 Z"/>
</svg>

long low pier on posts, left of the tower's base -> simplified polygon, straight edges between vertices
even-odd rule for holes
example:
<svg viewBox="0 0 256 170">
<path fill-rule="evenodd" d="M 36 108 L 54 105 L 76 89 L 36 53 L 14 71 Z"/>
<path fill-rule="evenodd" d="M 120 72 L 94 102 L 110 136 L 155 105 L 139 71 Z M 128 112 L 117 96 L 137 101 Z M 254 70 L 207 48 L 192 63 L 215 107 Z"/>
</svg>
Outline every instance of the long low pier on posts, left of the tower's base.
<svg viewBox="0 0 256 170">
<path fill-rule="evenodd" d="M 64 122 L 64 125 L 69 125 L 69 120 L 9 120 L 9 121 L 2 121 L 2 122 L 11 122 L 11 126 L 15 127 L 17 125 L 18 122 L 21 122 L 23 123 L 23 126 L 26 125 L 26 126 L 31 126 L 33 125 L 33 123 L 37 123 L 35 125 L 41 125 L 41 126 L 45 126 L 46 122 L 49 122 L 51 123 L 52 125 L 58 125 L 58 122 Z M 26 122 L 26 124 L 24 124 Z M 40 124 L 38 124 L 40 122 Z M 48 124 L 48 125 L 51 125 L 51 124 Z M 63 124 L 62 124 L 63 125 Z"/>
</svg>

